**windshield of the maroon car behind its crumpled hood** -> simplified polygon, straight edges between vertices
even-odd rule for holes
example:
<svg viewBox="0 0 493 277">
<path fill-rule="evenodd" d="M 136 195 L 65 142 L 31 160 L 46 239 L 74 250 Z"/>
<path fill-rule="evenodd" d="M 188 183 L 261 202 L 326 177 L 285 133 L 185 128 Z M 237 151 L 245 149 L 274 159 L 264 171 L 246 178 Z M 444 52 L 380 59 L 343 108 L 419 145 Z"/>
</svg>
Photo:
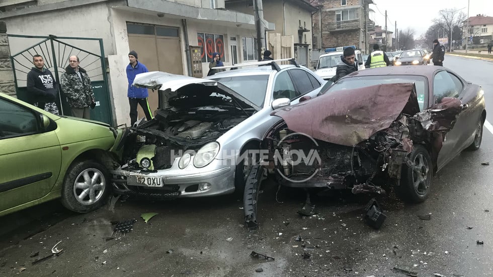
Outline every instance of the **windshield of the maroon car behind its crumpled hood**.
<svg viewBox="0 0 493 277">
<path fill-rule="evenodd" d="M 416 85 L 416 93 L 418 95 L 418 104 L 420 110 L 426 107 L 428 101 L 428 86 L 427 80 L 423 76 L 414 75 L 393 75 L 393 76 L 355 76 L 344 78 L 333 84 L 328 90 L 322 94 L 337 93 L 339 90 L 360 88 L 376 84 L 385 83 L 408 83 L 412 82 Z M 323 88 L 322 88 L 323 89 Z"/>
</svg>

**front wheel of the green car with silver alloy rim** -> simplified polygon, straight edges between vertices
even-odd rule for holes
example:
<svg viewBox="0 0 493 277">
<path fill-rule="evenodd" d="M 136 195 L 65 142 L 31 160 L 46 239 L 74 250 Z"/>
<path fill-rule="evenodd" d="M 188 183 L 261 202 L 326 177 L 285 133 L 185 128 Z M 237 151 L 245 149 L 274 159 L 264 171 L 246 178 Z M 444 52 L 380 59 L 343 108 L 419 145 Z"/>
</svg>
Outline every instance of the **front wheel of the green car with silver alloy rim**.
<svg viewBox="0 0 493 277">
<path fill-rule="evenodd" d="M 94 160 L 75 161 L 67 169 L 61 202 L 77 213 L 88 213 L 101 207 L 111 186 L 105 166 Z"/>
</svg>

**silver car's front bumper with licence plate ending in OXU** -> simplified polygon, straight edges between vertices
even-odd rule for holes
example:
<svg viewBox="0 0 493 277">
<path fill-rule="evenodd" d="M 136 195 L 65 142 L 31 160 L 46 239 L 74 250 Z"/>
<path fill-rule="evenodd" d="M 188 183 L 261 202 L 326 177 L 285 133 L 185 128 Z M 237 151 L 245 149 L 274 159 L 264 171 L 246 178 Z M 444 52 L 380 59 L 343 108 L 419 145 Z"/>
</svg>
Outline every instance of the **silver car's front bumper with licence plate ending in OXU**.
<svg viewBox="0 0 493 277">
<path fill-rule="evenodd" d="M 215 159 L 204 168 L 180 169 L 176 158 L 169 169 L 131 170 L 122 166 L 111 170 L 117 194 L 174 199 L 230 194 L 234 191 L 234 166 Z M 229 163 L 228 163 L 229 162 Z"/>
</svg>

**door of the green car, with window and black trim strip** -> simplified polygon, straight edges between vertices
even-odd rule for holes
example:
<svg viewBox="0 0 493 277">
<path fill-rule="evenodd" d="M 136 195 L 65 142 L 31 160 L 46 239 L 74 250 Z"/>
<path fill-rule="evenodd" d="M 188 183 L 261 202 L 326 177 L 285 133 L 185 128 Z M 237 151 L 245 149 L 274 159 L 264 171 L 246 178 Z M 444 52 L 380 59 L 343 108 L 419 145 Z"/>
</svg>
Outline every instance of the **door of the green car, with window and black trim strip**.
<svg viewBox="0 0 493 277">
<path fill-rule="evenodd" d="M 47 195 L 58 178 L 61 150 L 40 114 L 0 97 L 0 211 Z"/>
</svg>

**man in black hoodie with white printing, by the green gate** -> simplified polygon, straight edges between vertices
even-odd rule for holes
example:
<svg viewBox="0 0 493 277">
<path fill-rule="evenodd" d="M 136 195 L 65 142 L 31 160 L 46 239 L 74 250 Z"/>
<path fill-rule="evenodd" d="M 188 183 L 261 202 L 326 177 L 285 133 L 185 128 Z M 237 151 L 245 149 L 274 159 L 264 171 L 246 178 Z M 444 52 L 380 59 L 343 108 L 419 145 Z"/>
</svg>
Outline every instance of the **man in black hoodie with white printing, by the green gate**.
<svg viewBox="0 0 493 277">
<path fill-rule="evenodd" d="M 33 56 L 34 67 L 27 73 L 27 92 L 30 103 L 34 106 L 58 115 L 56 99 L 58 97 L 58 85 L 50 70 L 44 68 L 44 60 L 41 55 Z"/>
</svg>

